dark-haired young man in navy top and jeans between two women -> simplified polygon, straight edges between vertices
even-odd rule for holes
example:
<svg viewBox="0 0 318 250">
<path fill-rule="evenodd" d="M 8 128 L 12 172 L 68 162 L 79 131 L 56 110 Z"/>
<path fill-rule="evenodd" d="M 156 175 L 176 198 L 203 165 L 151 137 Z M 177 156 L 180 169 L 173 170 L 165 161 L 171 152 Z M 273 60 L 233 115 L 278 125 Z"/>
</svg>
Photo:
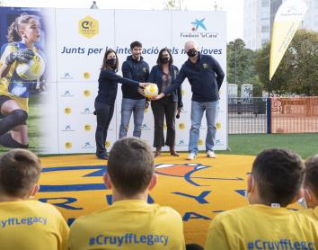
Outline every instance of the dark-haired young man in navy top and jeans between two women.
<svg viewBox="0 0 318 250">
<path fill-rule="evenodd" d="M 134 41 L 130 44 L 131 56 L 122 64 L 122 76 L 135 80 L 140 83 L 146 83 L 149 76 L 149 66 L 141 56 L 142 44 Z M 127 136 L 128 125 L 131 113 L 134 113 L 134 132 L 133 136 L 141 137 L 141 126 L 144 120 L 144 110 L 146 107 L 146 98 L 137 92 L 137 86 L 122 85 L 121 101 L 121 121 L 119 128 L 119 138 Z"/>
</svg>

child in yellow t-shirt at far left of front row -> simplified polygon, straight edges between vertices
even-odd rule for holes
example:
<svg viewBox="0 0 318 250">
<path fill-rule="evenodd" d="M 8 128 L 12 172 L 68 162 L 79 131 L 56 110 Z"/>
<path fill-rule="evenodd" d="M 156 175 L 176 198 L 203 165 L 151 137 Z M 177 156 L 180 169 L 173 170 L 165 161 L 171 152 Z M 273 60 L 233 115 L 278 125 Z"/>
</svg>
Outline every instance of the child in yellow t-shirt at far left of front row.
<svg viewBox="0 0 318 250">
<path fill-rule="evenodd" d="M 42 166 L 26 149 L 0 156 L 0 249 L 66 249 L 69 228 L 56 208 L 31 201 Z"/>
</svg>

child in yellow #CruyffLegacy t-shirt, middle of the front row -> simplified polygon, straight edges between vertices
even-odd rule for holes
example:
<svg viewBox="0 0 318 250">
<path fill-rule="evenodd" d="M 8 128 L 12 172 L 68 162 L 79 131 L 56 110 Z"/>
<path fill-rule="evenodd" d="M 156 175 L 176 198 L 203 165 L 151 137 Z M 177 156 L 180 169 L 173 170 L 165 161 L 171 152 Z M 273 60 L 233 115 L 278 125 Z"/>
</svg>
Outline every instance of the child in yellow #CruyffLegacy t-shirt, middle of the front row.
<svg viewBox="0 0 318 250">
<path fill-rule="evenodd" d="M 113 204 L 76 219 L 68 249 L 185 249 L 180 214 L 146 202 L 155 187 L 154 156 L 139 138 L 119 139 L 111 148 L 103 177 Z"/>
</svg>

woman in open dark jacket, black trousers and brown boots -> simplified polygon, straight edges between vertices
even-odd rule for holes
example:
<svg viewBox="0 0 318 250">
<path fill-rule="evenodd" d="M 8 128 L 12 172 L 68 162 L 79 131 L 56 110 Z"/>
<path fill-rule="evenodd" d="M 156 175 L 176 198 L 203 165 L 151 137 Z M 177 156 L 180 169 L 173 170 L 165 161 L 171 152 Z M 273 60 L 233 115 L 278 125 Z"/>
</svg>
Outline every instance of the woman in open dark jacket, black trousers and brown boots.
<svg viewBox="0 0 318 250">
<path fill-rule="evenodd" d="M 157 65 L 151 69 L 148 81 L 150 83 L 155 83 L 158 85 L 159 94 L 163 90 L 172 85 L 172 81 L 179 73 L 178 67 L 172 65 L 172 53 L 170 49 L 161 49 L 157 58 Z M 165 140 L 165 145 L 170 147 L 170 154 L 172 156 L 179 156 L 174 150 L 175 143 L 175 115 L 176 111 L 181 109 L 181 87 L 172 94 L 168 94 L 158 101 L 151 102 L 151 108 L 154 113 L 155 119 L 155 157 L 160 156 L 161 148 L 164 146 L 163 137 L 163 120 L 165 116 L 165 121 L 167 123 L 167 138 Z"/>
</svg>

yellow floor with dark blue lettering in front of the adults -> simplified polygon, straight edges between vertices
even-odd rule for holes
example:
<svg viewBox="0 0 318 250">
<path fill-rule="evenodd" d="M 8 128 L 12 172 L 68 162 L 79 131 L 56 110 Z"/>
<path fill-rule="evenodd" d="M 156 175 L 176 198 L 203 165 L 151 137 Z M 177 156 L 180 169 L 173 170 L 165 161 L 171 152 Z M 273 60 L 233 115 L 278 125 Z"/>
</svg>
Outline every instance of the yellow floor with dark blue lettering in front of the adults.
<svg viewBox="0 0 318 250">
<path fill-rule="evenodd" d="M 155 159 L 158 183 L 148 202 L 178 210 L 184 223 L 186 243 L 204 245 L 208 225 L 218 213 L 247 204 L 243 196 L 246 174 L 254 156 L 163 154 Z M 44 165 L 36 199 L 57 206 L 67 222 L 111 204 L 111 191 L 102 183 L 106 161 L 93 155 L 41 158 Z M 299 209 L 295 204 L 293 209 Z"/>
</svg>

